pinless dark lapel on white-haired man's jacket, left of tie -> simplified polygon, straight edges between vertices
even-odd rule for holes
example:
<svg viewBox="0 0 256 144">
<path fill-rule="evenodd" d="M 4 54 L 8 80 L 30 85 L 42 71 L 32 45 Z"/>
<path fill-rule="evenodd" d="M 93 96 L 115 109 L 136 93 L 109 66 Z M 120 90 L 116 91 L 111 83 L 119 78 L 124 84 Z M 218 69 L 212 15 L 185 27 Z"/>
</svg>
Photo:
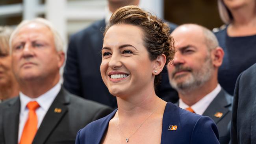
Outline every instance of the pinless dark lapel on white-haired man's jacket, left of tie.
<svg viewBox="0 0 256 144">
<path fill-rule="evenodd" d="M 17 144 L 19 131 L 20 98 L 14 98 L 3 111 L 4 139 L 6 144 Z"/>
</svg>

